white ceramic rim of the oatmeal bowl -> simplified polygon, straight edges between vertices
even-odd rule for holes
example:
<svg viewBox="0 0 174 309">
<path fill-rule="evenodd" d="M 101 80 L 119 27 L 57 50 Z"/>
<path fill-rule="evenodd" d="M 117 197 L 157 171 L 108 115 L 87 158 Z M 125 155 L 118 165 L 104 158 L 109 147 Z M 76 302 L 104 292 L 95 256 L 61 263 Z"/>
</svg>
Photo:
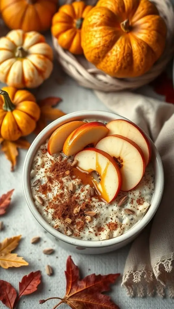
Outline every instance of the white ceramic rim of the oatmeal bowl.
<svg viewBox="0 0 174 309">
<path fill-rule="evenodd" d="M 34 218 L 37 220 L 37 222 L 48 233 L 50 233 L 56 239 L 63 241 L 64 243 L 69 243 L 70 245 L 74 245 L 74 246 L 82 247 L 82 248 L 104 248 L 104 247 L 109 247 L 115 244 L 122 243 L 128 240 L 129 238 L 133 238 L 134 236 L 138 235 L 144 229 L 144 227 L 150 222 L 156 210 L 158 209 L 158 206 L 161 201 L 162 194 L 163 194 L 163 188 L 164 188 L 164 172 L 163 172 L 163 164 L 161 161 L 161 157 L 154 143 L 152 142 L 152 140 L 143 131 L 151 143 L 153 161 L 155 163 L 156 171 L 159 174 L 159 179 L 158 181 L 155 180 L 154 195 L 153 195 L 152 203 L 150 205 L 149 210 L 147 211 L 145 216 L 136 225 L 134 225 L 129 231 L 115 238 L 106 239 L 106 240 L 97 240 L 97 241 L 80 240 L 80 239 L 76 239 L 76 238 L 72 238 L 67 235 L 64 235 L 61 232 L 54 229 L 54 227 L 51 226 L 48 222 L 46 222 L 44 218 L 41 216 L 41 214 L 38 212 L 36 206 L 34 205 L 33 198 L 31 195 L 29 174 L 30 174 L 31 164 L 33 162 L 33 157 L 38 147 L 42 144 L 41 141 L 44 140 L 45 135 L 49 134 L 50 136 L 51 133 L 56 128 L 58 128 L 60 125 L 64 123 L 72 121 L 72 118 L 75 118 L 73 120 L 83 120 L 83 119 L 105 120 L 108 118 L 110 119 L 110 121 L 115 120 L 115 119 L 124 119 L 129 122 L 132 122 L 128 120 L 127 118 L 120 116 L 118 114 L 112 113 L 112 112 L 99 111 L 99 110 L 94 110 L 94 111 L 84 110 L 84 111 L 72 112 L 67 115 L 64 115 L 56 119 L 55 121 L 51 122 L 49 125 L 47 125 L 34 139 L 33 143 L 28 149 L 28 152 L 27 152 L 27 155 L 24 161 L 22 183 L 23 183 L 24 196 L 25 196 L 28 208 L 33 214 Z"/>
</svg>

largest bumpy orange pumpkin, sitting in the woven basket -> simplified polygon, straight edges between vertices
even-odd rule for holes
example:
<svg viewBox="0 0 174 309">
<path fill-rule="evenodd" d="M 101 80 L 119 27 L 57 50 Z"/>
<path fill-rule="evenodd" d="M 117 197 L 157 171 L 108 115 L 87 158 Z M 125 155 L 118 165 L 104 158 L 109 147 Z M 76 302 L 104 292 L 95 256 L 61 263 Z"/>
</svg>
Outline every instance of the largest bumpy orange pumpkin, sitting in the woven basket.
<svg viewBox="0 0 174 309">
<path fill-rule="evenodd" d="M 166 32 L 148 0 L 99 0 L 83 22 L 82 48 L 87 60 L 106 74 L 136 77 L 161 56 Z"/>
</svg>

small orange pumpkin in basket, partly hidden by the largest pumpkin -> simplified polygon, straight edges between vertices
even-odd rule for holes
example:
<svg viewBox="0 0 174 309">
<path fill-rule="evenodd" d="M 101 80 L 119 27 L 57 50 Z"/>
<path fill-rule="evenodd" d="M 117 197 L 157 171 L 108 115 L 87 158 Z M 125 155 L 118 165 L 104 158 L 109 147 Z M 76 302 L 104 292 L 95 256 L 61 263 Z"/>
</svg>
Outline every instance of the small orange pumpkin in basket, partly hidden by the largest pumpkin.
<svg viewBox="0 0 174 309">
<path fill-rule="evenodd" d="M 51 32 L 59 45 L 73 54 L 82 54 L 81 26 L 83 19 L 91 10 L 91 5 L 83 1 L 65 4 L 54 15 Z"/>
</svg>

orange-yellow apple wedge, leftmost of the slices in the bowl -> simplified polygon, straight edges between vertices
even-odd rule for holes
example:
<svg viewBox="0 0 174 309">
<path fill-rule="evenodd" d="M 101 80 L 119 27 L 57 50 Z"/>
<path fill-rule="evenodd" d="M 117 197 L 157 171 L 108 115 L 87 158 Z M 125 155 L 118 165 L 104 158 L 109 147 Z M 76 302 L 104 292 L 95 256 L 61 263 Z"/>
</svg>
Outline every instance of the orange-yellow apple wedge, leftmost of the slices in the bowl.
<svg viewBox="0 0 174 309">
<path fill-rule="evenodd" d="M 56 129 L 49 138 L 48 153 L 53 155 L 59 151 L 62 151 L 63 144 L 66 141 L 68 135 L 75 129 L 79 128 L 81 125 L 84 125 L 83 121 L 71 121 L 61 125 L 58 129 Z"/>
</svg>

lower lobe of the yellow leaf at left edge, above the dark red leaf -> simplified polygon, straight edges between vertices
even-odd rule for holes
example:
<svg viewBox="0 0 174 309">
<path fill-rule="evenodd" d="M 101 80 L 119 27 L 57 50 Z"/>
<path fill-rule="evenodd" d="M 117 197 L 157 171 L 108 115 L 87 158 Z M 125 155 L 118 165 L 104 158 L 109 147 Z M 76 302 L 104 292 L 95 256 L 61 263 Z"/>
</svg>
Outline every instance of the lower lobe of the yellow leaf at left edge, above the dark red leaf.
<svg viewBox="0 0 174 309">
<path fill-rule="evenodd" d="M 23 260 L 23 257 L 17 256 L 15 253 L 7 253 L 6 255 L 0 255 L 0 266 L 2 268 L 27 266 L 28 262 Z"/>
</svg>

